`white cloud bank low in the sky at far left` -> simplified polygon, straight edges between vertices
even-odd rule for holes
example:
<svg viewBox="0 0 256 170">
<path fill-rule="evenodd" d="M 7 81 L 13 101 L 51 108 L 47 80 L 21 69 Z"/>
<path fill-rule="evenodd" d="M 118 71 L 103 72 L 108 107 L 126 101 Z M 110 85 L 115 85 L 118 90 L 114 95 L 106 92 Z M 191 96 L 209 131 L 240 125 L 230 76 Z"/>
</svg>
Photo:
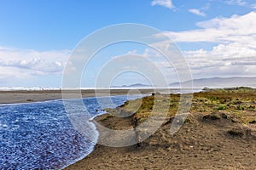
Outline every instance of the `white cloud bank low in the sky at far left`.
<svg viewBox="0 0 256 170">
<path fill-rule="evenodd" d="M 0 47 L 0 79 L 61 74 L 69 54 Z"/>
</svg>

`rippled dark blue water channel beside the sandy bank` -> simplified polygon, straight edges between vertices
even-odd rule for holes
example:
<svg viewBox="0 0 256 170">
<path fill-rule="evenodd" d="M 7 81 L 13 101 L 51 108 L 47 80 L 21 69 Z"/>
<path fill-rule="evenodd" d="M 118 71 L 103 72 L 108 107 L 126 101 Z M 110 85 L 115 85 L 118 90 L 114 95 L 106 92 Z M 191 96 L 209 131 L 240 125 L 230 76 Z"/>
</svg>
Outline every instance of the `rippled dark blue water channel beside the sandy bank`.
<svg viewBox="0 0 256 170">
<path fill-rule="evenodd" d="M 102 114 L 102 109 L 141 97 L 102 97 L 100 103 L 99 98 L 85 98 L 83 102 L 93 117 Z M 79 111 L 79 108 L 74 109 Z M 95 137 L 97 132 L 92 123 L 85 126 L 86 132 L 90 132 L 88 136 Z M 94 145 L 94 141 L 74 129 L 61 100 L 0 105 L 0 169 L 67 167 L 90 154 Z"/>
</svg>

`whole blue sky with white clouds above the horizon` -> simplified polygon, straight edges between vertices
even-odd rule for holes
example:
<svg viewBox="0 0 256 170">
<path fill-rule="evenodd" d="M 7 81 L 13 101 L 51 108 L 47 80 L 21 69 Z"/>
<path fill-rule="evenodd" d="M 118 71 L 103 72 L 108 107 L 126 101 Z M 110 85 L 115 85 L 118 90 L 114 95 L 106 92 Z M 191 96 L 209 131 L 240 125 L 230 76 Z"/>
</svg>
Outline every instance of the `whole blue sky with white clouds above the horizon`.
<svg viewBox="0 0 256 170">
<path fill-rule="evenodd" d="M 253 0 L 0 0 L 0 87 L 61 88 L 73 48 L 91 32 L 121 23 L 165 32 L 177 42 L 194 78 L 253 77 L 255 11 Z M 123 44 L 103 50 L 82 86 L 93 87 L 94 67 L 131 51 L 143 54 L 141 49 Z M 147 81 L 127 74 L 113 85 L 137 82 Z M 170 77 L 170 82 L 176 81 Z"/>
</svg>

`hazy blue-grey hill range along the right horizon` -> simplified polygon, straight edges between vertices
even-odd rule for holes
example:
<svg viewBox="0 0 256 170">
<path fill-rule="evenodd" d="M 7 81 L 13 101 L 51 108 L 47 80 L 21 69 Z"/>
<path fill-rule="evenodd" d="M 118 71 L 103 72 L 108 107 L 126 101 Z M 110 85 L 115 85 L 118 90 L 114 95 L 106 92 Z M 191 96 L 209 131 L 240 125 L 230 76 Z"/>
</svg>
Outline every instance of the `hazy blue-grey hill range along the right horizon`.
<svg viewBox="0 0 256 170">
<path fill-rule="evenodd" d="M 231 87 L 251 87 L 256 88 L 256 77 L 212 77 L 193 80 L 194 88 L 231 88 Z M 189 88 L 190 81 L 183 82 L 184 88 Z M 180 83 L 170 84 L 170 88 L 179 88 Z"/>
</svg>

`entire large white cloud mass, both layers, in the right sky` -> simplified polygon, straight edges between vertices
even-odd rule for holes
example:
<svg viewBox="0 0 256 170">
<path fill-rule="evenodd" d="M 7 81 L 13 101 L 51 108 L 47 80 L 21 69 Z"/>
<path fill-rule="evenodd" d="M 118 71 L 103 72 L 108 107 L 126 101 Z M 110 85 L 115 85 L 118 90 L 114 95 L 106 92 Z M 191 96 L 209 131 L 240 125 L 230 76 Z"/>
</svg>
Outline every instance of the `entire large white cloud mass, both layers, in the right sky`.
<svg viewBox="0 0 256 170">
<path fill-rule="evenodd" d="M 197 23 L 201 29 L 166 31 L 174 42 L 212 42 L 204 48 L 184 51 L 193 77 L 255 76 L 256 12 L 215 18 Z M 157 35 L 160 37 L 160 35 Z"/>
</svg>

